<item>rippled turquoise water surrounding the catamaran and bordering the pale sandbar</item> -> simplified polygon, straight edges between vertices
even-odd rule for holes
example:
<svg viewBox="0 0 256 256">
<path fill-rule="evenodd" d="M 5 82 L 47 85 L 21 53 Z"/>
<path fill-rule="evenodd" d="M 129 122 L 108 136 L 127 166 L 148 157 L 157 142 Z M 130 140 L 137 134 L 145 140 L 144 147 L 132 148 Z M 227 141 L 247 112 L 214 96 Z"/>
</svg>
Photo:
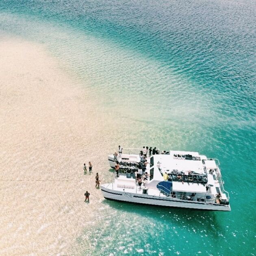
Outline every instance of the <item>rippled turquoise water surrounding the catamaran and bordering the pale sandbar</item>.
<svg viewBox="0 0 256 256">
<path fill-rule="evenodd" d="M 221 162 L 230 213 L 104 200 L 80 254 L 255 254 L 254 2 L 2 0 L 0 10 L 0 30 L 44 43 L 113 113 L 117 145 Z"/>
</svg>

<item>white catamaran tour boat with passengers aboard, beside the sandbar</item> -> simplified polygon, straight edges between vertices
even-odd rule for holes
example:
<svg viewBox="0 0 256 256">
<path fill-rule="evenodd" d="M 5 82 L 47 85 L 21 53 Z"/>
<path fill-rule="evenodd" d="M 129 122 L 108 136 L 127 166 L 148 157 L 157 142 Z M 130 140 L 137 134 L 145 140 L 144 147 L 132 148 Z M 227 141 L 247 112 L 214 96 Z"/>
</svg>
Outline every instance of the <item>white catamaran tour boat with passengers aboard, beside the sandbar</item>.
<svg viewBox="0 0 256 256">
<path fill-rule="evenodd" d="M 115 168 L 116 161 L 119 161 L 120 168 L 119 177 L 100 186 L 105 198 L 158 206 L 230 211 L 229 194 L 224 190 L 217 159 L 209 159 L 197 152 L 169 151 L 148 156 L 148 164 L 144 164 L 139 154 L 130 154 L 134 149 L 128 150 L 128 154 L 108 156 L 110 166 Z M 136 179 L 136 176 L 141 176 L 138 169 L 143 169 L 143 184 Z"/>
</svg>

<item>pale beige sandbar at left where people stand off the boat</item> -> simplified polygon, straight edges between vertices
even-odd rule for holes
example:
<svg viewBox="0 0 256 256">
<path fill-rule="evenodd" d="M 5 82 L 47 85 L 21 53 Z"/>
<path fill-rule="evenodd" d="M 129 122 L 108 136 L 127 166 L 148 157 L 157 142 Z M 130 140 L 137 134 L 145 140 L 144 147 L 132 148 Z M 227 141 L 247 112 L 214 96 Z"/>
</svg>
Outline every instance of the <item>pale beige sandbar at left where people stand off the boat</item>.
<svg viewBox="0 0 256 256">
<path fill-rule="evenodd" d="M 72 254 L 96 221 L 113 124 L 93 104 L 44 46 L 0 38 L 0 255 Z"/>
</svg>

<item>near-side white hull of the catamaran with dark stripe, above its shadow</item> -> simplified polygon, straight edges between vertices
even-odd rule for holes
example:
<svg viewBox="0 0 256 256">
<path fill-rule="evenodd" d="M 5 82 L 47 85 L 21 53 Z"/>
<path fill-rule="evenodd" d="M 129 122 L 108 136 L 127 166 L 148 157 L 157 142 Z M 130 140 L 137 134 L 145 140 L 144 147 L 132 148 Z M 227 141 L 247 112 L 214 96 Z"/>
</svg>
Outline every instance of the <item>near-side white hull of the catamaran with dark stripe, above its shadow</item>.
<svg viewBox="0 0 256 256">
<path fill-rule="evenodd" d="M 100 188 L 102 190 L 102 194 L 104 198 L 109 200 L 131 202 L 131 203 L 137 203 L 137 204 L 151 204 L 151 205 L 167 206 L 167 207 L 192 208 L 192 209 L 198 209 L 198 210 L 230 211 L 229 205 L 205 204 L 204 202 L 193 202 L 193 201 L 184 202 L 184 200 L 179 200 L 172 197 L 152 196 L 147 194 L 117 191 L 117 190 L 109 189 L 104 185 L 102 185 Z"/>
</svg>

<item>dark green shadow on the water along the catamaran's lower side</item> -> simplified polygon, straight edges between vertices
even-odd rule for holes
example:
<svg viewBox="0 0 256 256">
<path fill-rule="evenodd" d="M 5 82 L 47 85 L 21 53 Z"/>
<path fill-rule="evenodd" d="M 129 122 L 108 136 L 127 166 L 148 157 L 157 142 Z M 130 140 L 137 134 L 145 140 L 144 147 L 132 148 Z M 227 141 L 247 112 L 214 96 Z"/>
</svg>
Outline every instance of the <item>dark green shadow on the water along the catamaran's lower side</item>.
<svg viewBox="0 0 256 256">
<path fill-rule="evenodd" d="M 215 238 L 224 232 L 224 226 L 221 223 L 223 223 L 223 218 L 227 214 L 226 212 L 136 204 L 108 199 L 104 199 L 102 203 L 123 213 L 141 215 L 142 217 L 153 218 L 162 222 L 168 221 L 170 224 L 173 223 L 180 228 L 187 226 L 197 231 L 205 230 L 207 233 L 210 232 L 210 235 Z"/>
</svg>

